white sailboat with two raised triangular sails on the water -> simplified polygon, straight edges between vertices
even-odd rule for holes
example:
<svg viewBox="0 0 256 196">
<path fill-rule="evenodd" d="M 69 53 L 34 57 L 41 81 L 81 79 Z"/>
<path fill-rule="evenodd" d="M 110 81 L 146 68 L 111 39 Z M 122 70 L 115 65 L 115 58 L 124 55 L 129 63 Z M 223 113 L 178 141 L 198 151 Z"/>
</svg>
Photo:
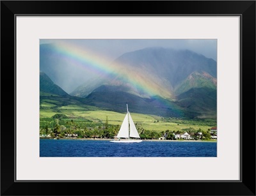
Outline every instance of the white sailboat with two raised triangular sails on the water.
<svg viewBox="0 0 256 196">
<path fill-rule="evenodd" d="M 128 110 L 128 104 L 126 104 L 127 107 L 127 114 L 125 115 L 124 121 L 121 125 L 121 128 L 116 135 L 115 140 L 110 140 L 110 142 L 116 142 L 116 143 L 134 143 L 134 142 L 142 142 L 140 139 L 140 135 L 136 129 L 135 124 L 132 121 L 131 114 Z"/>
</svg>

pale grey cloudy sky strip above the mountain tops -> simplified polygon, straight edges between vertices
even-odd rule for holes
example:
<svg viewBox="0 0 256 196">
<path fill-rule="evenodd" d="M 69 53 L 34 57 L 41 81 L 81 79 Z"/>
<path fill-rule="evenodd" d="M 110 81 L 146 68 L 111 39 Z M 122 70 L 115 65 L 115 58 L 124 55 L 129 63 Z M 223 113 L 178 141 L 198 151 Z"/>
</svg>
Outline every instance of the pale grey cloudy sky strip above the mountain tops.
<svg viewBox="0 0 256 196">
<path fill-rule="evenodd" d="M 188 49 L 205 57 L 217 59 L 217 40 L 40 40 L 42 43 L 70 43 L 78 47 L 90 49 L 92 52 L 104 54 L 115 60 L 125 52 L 140 50 L 146 47 L 164 47 L 172 49 Z M 109 49 L 111 46 L 111 49 Z"/>
</svg>

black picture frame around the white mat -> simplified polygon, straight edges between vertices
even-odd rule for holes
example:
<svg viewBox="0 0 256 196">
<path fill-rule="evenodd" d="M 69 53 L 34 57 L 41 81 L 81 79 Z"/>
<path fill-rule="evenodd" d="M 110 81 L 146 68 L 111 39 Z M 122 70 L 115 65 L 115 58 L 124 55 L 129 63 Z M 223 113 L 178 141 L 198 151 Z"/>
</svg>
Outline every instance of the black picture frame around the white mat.
<svg viewBox="0 0 256 196">
<path fill-rule="evenodd" d="M 15 15 L 19 14 L 239 15 L 241 180 L 15 181 Z M 1 1 L 1 195 L 255 195 L 255 1 Z"/>
</svg>

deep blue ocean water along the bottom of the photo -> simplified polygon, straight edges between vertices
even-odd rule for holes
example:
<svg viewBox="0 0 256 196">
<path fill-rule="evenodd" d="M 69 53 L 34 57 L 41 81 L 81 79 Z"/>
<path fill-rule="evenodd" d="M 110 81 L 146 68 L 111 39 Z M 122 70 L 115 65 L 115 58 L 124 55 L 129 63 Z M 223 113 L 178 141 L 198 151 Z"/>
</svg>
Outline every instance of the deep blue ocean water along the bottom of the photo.
<svg viewBox="0 0 256 196">
<path fill-rule="evenodd" d="M 40 157 L 216 157 L 217 142 L 40 139 Z"/>
</svg>

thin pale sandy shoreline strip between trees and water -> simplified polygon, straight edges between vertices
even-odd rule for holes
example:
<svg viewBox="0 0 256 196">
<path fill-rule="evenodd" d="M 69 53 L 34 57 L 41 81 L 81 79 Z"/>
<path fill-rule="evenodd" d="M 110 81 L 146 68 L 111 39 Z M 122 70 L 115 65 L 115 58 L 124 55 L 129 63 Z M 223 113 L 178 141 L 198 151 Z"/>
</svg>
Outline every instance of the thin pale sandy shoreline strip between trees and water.
<svg viewBox="0 0 256 196">
<path fill-rule="evenodd" d="M 40 139 L 51 139 L 52 138 L 42 138 L 40 137 Z M 60 140 L 113 140 L 113 139 L 91 139 L 91 138 L 76 138 L 76 139 L 72 139 L 72 138 L 60 138 Z M 217 140 L 142 140 L 145 142 L 217 142 Z"/>
</svg>

